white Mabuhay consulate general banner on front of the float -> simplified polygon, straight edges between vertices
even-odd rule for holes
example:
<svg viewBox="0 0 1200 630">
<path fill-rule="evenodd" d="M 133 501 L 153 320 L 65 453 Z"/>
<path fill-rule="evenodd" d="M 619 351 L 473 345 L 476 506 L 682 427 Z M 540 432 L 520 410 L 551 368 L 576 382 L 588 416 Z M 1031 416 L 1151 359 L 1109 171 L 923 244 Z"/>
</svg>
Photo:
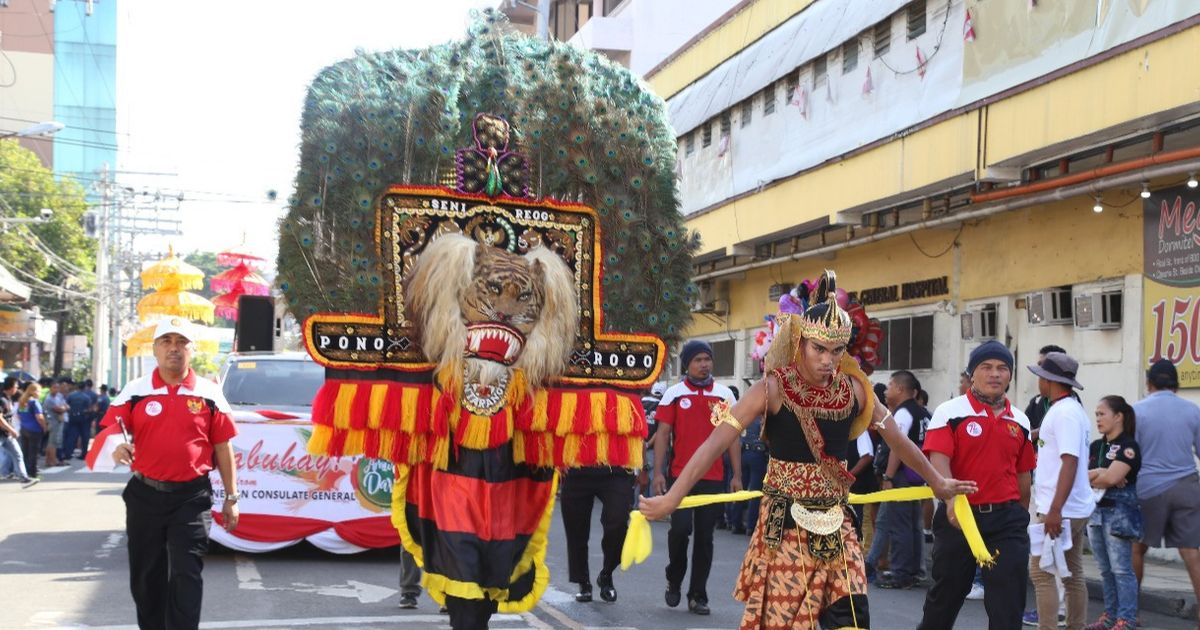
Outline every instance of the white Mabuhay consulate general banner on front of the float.
<svg viewBox="0 0 1200 630">
<path fill-rule="evenodd" d="M 390 512 L 391 462 L 310 455 L 308 425 L 240 424 L 238 432 L 233 448 L 242 514 L 340 522 Z M 220 510 L 221 476 L 210 479 Z"/>
</svg>

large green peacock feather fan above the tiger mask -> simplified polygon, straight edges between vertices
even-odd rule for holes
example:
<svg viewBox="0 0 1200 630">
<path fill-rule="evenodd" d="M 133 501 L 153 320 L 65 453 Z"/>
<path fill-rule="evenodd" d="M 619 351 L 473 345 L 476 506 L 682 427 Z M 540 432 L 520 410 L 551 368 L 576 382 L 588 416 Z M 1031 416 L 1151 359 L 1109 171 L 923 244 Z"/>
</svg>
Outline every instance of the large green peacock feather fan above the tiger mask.
<svg viewBox="0 0 1200 630">
<path fill-rule="evenodd" d="M 492 10 L 474 16 L 463 41 L 359 53 L 312 82 L 280 222 L 280 289 L 293 314 L 376 310 L 380 262 L 364 246 L 374 240 L 373 200 L 391 184 L 445 185 L 460 149 L 478 144 L 480 113 L 511 124 L 529 196 L 599 214 L 605 328 L 679 340 L 698 235 L 678 211 L 662 100 L 605 56 L 524 36 Z M 526 168 L 500 167 L 506 179 Z"/>
</svg>

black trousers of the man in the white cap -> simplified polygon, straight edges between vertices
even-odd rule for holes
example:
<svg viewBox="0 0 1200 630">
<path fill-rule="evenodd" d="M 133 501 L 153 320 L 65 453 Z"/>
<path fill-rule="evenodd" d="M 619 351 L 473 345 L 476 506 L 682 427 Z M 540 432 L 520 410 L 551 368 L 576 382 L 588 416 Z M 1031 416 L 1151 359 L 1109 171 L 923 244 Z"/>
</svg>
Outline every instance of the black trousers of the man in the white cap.
<svg viewBox="0 0 1200 630">
<path fill-rule="evenodd" d="M 125 499 L 130 536 L 130 590 L 142 630 L 194 630 L 200 625 L 204 554 L 212 522 L 208 476 L 178 492 L 131 479 Z"/>
</svg>

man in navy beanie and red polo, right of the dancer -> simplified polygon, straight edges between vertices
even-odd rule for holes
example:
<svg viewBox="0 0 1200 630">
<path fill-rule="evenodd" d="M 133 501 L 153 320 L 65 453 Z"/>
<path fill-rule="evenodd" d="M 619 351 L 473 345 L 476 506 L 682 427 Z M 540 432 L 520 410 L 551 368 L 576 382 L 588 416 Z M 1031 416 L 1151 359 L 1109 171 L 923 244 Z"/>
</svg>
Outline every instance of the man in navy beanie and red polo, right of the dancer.
<svg viewBox="0 0 1200 630">
<path fill-rule="evenodd" d="M 971 352 L 970 390 L 934 412 L 924 450 L 943 476 L 974 481 L 967 494 L 984 544 L 996 564 L 983 570 L 989 628 L 1016 630 L 1025 611 L 1028 578 L 1030 472 L 1036 457 L 1030 421 L 1006 398 L 1013 380 L 1013 353 L 997 341 Z M 925 596 L 919 630 L 950 630 L 971 590 L 976 563 L 954 512 L 946 504 L 934 516 L 934 587 Z"/>
</svg>

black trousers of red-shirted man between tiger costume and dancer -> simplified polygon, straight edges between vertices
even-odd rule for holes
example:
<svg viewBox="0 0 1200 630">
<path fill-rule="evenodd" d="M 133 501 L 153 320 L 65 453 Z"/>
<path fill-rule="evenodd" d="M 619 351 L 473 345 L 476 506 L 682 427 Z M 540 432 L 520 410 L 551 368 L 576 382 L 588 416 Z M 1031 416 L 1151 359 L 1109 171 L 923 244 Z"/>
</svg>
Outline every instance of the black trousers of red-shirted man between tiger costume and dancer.
<svg viewBox="0 0 1200 630">
<path fill-rule="evenodd" d="M 674 480 L 672 480 L 674 481 Z M 691 494 L 719 494 L 725 492 L 722 481 L 700 480 L 691 488 Z M 671 515 L 671 529 L 667 530 L 667 586 L 672 590 L 683 584 L 688 572 L 688 539 L 696 534 L 691 547 L 691 581 L 688 584 L 688 599 L 708 604 L 708 572 L 713 569 L 713 532 L 716 520 L 724 512 L 720 503 L 703 508 L 676 510 Z"/>
</svg>

